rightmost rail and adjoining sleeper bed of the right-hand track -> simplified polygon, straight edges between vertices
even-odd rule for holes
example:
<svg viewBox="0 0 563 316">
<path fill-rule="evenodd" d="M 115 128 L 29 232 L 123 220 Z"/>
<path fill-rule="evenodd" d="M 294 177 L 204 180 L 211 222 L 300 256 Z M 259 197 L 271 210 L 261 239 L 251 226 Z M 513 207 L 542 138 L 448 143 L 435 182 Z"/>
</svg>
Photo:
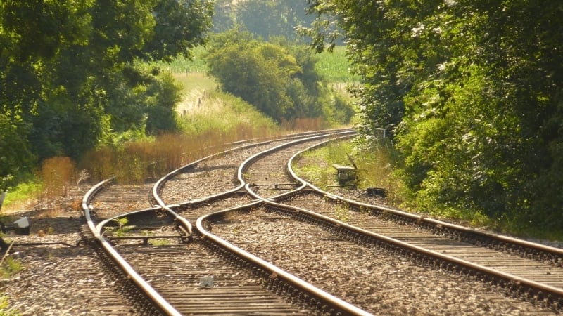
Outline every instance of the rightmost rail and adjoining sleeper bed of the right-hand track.
<svg viewBox="0 0 563 316">
<path fill-rule="evenodd" d="M 291 169 L 291 163 L 288 165 Z M 448 253 L 450 256 L 470 260 L 494 270 L 502 270 L 517 277 L 535 280 L 548 287 L 563 289 L 563 249 L 472 230 L 346 197 L 334 199 L 336 196 L 299 178 L 292 170 L 289 173 L 294 179 L 313 189 L 313 193 L 308 197 L 315 195 L 316 198 L 312 197 L 312 204 L 306 202 L 309 198 L 305 198 L 305 204 L 314 208 L 318 205 L 314 200 L 319 197 L 324 201 L 338 201 L 350 211 L 354 211 L 356 216 L 360 215 L 358 218 L 349 218 L 356 227 L 380 232 L 443 254 Z M 293 199 L 294 202 L 297 200 Z M 324 211 L 322 208 L 315 210 L 320 213 Z M 369 220 L 362 218 L 362 213 L 369 215 Z M 408 229 L 405 229 L 405 226 Z"/>
</svg>

